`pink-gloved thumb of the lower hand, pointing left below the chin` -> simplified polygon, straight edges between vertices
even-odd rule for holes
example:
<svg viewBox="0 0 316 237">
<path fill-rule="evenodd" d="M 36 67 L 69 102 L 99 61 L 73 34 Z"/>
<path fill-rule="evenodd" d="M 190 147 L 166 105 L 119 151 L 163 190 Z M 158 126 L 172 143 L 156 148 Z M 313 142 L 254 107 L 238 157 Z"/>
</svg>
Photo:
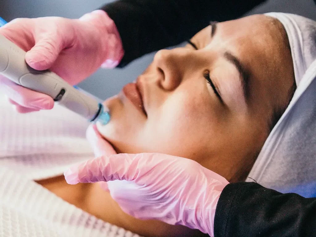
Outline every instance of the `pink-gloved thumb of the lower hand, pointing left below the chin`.
<svg viewBox="0 0 316 237">
<path fill-rule="evenodd" d="M 68 184 L 95 183 L 99 181 L 133 181 L 139 175 L 138 167 L 142 154 L 118 154 L 101 156 L 68 169 L 65 179 Z"/>
</svg>

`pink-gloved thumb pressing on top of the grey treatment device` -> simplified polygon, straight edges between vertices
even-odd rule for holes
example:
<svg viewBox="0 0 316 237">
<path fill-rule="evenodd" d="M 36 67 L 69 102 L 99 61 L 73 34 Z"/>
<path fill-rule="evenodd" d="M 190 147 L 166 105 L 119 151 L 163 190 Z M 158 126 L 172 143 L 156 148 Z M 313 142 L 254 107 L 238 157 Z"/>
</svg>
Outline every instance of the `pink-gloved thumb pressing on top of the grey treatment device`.
<svg viewBox="0 0 316 237">
<path fill-rule="evenodd" d="M 35 70 L 46 70 L 52 67 L 61 52 L 61 42 L 57 35 L 40 37 L 33 48 L 25 55 L 27 64 Z"/>
</svg>

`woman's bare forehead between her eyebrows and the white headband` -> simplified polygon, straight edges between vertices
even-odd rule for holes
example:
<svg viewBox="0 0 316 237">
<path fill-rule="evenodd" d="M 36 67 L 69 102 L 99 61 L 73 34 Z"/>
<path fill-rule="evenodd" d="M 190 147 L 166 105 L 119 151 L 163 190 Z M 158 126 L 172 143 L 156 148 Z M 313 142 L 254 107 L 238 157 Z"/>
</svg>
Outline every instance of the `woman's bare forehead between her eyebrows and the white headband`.
<svg viewBox="0 0 316 237">
<path fill-rule="evenodd" d="M 252 80 L 269 80 L 276 76 L 284 56 L 285 39 L 281 23 L 265 15 L 252 15 L 218 23 L 217 35 L 207 47 L 233 52 L 252 74 Z"/>
</svg>

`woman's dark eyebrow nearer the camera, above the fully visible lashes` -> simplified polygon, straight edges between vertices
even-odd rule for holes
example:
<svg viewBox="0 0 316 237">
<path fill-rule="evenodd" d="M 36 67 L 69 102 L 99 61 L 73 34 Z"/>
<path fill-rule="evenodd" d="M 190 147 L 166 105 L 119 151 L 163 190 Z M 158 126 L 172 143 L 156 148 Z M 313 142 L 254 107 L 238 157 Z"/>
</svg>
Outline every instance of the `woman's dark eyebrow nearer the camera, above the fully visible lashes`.
<svg viewBox="0 0 316 237">
<path fill-rule="evenodd" d="M 236 69 L 239 72 L 239 78 L 240 78 L 240 83 L 241 83 L 241 88 L 244 93 L 244 97 L 246 102 L 248 101 L 249 98 L 249 73 L 245 70 L 245 68 L 242 66 L 240 63 L 240 60 L 234 56 L 231 52 L 225 52 L 224 57 L 234 64 Z"/>
</svg>

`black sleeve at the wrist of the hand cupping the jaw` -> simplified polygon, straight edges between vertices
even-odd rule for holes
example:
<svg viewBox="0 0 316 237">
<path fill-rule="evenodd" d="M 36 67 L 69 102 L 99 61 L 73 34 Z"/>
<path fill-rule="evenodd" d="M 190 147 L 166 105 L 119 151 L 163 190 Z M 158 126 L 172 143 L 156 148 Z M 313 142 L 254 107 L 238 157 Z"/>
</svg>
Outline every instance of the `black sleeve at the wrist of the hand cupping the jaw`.
<svg viewBox="0 0 316 237">
<path fill-rule="evenodd" d="M 256 183 L 227 185 L 218 200 L 215 237 L 316 236 L 316 198 L 282 194 Z"/>
</svg>

